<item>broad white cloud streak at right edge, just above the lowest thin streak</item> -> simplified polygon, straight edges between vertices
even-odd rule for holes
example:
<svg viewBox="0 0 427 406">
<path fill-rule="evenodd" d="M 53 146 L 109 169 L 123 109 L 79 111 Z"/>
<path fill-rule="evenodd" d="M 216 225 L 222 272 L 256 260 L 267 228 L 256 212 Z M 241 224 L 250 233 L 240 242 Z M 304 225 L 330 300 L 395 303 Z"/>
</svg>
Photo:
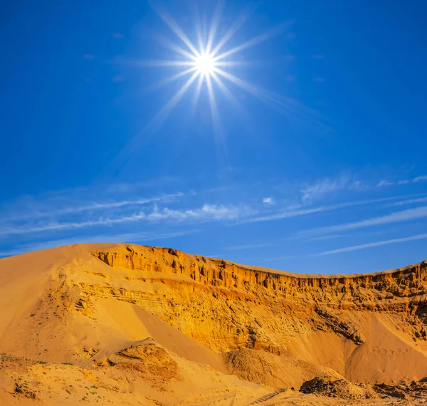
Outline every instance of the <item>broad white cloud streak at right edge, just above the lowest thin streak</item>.
<svg viewBox="0 0 427 406">
<path fill-rule="evenodd" d="M 371 219 L 360 220 L 359 222 L 337 224 L 334 226 L 319 227 L 307 231 L 301 231 L 302 236 L 310 236 L 316 234 L 333 234 L 339 231 L 347 231 L 354 229 L 362 229 L 364 227 L 373 227 L 396 222 L 408 222 L 414 219 L 427 217 L 427 206 L 416 207 L 414 209 L 406 209 L 401 212 L 386 214 L 385 216 L 372 217 Z"/>
</svg>

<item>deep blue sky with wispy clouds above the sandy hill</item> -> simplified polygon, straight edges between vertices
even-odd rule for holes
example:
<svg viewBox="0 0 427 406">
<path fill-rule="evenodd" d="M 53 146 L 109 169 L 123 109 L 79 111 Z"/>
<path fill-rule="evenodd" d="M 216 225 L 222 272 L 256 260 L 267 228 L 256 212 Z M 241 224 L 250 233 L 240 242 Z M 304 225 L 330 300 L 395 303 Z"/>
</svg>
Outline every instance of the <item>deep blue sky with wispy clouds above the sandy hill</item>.
<svg viewBox="0 0 427 406">
<path fill-rule="evenodd" d="M 4 2 L 0 255 L 115 241 L 326 274 L 426 259 L 425 12 Z M 180 75 L 198 32 L 228 53 L 199 96 Z"/>
</svg>

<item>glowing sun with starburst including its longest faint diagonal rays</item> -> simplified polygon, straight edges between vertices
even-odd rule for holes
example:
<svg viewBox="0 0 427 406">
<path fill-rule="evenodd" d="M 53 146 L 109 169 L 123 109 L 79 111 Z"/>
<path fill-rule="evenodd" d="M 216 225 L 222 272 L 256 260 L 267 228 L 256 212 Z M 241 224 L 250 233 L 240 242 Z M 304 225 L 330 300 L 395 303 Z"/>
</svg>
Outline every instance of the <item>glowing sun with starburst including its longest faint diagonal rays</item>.
<svg viewBox="0 0 427 406">
<path fill-rule="evenodd" d="M 244 9 L 231 26 L 225 30 L 220 30 L 223 32 L 223 35 L 219 36 L 219 22 L 226 0 L 218 0 L 207 35 L 203 35 L 204 30 L 201 29 L 201 19 L 196 16 L 194 26 L 196 41 L 194 41 L 194 39 L 191 41 L 191 37 L 187 36 L 181 26 L 179 26 L 168 13 L 167 9 L 159 6 L 157 1 L 159 0 L 149 0 L 149 3 L 164 24 L 175 34 L 176 39 L 178 39 L 180 43 L 177 44 L 167 37 L 162 37 L 160 41 L 161 45 L 172 51 L 169 60 L 137 60 L 129 62 L 135 64 L 135 66 L 174 68 L 178 70 L 176 73 L 167 76 L 158 83 L 153 83 L 153 85 L 150 86 L 151 89 L 169 85 L 169 83 L 173 83 L 176 80 L 183 80 L 184 83 L 179 87 L 176 93 L 172 95 L 167 103 L 160 108 L 152 120 L 150 120 L 135 137 L 132 137 L 130 142 L 127 142 L 127 145 L 125 145 L 120 154 L 115 158 L 115 167 L 122 167 L 122 165 L 125 165 L 125 163 L 130 160 L 130 155 L 154 135 L 154 132 L 156 132 L 164 120 L 168 118 L 172 110 L 174 110 L 176 105 L 178 105 L 191 88 L 194 88 L 194 95 L 190 108 L 191 113 L 196 112 L 201 98 L 201 92 L 206 88 L 211 120 L 214 127 L 214 139 L 217 147 L 221 148 L 221 152 L 226 159 L 228 167 L 230 167 L 230 162 L 228 162 L 227 158 L 225 135 L 221 125 L 221 112 L 216 103 L 216 93 L 218 91 L 230 102 L 230 111 L 233 112 L 233 110 L 235 110 L 236 113 L 241 115 L 243 120 L 250 120 L 251 116 L 247 114 L 246 109 L 236 97 L 236 89 L 243 90 L 254 98 L 257 98 L 260 102 L 265 103 L 265 105 L 273 108 L 281 115 L 285 115 L 288 118 L 295 118 L 297 123 L 316 125 L 322 131 L 330 130 L 329 123 L 327 123 L 325 118 L 315 110 L 305 107 L 297 100 L 286 95 L 275 93 L 255 83 L 251 83 L 248 80 L 244 80 L 236 76 L 236 71 L 231 73 L 231 68 L 251 65 L 251 63 L 233 59 L 236 54 L 242 53 L 253 46 L 258 46 L 260 43 L 288 31 L 293 21 L 275 26 L 270 29 L 270 31 L 236 44 L 236 42 L 233 41 L 235 34 L 246 24 L 246 21 L 248 21 L 255 9 Z M 221 102 L 221 107 L 222 104 Z"/>
</svg>

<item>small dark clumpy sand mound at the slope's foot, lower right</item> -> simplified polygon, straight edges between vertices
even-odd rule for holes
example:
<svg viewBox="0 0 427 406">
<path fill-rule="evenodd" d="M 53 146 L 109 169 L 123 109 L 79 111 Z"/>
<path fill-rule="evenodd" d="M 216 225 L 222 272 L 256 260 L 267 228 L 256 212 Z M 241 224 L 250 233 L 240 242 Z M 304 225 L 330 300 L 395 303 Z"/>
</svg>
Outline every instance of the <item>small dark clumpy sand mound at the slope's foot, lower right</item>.
<svg viewBox="0 0 427 406">
<path fill-rule="evenodd" d="M 314 393 L 315 395 L 340 397 L 342 399 L 360 400 L 369 396 L 366 389 L 352 384 L 345 379 L 334 379 L 332 377 L 316 377 L 304 382 L 300 387 L 302 393 Z"/>
</svg>

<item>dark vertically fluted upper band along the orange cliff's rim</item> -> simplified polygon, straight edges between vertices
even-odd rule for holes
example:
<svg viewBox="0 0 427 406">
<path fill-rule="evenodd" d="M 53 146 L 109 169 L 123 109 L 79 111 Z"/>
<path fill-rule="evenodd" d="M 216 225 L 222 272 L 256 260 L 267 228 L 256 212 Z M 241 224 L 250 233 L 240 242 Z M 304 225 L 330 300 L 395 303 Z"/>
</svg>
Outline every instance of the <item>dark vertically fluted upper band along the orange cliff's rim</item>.
<svg viewBox="0 0 427 406">
<path fill-rule="evenodd" d="M 132 247 L 112 251 L 95 251 L 93 256 L 112 267 L 121 266 L 135 271 L 157 271 L 162 274 L 182 274 L 205 286 L 227 288 L 230 291 L 251 291 L 263 286 L 280 296 L 308 293 L 313 299 L 327 294 L 328 298 L 342 301 L 349 296 L 350 305 L 363 306 L 364 301 L 375 298 L 380 303 L 426 301 L 427 262 L 393 271 L 354 276 L 292 275 L 280 271 L 251 269 L 228 261 L 206 259 L 204 256 L 184 254 L 174 249 Z M 152 262 L 153 257 L 156 259 Z M 350 298 L 352 298 L 350 300 Z M 362 305 L 361 302 L 362 301 Z M 394 303 L 394 302 L 393 302 Z M 369 306 L 369 303 L 365 303 Z"/>
</svg>

